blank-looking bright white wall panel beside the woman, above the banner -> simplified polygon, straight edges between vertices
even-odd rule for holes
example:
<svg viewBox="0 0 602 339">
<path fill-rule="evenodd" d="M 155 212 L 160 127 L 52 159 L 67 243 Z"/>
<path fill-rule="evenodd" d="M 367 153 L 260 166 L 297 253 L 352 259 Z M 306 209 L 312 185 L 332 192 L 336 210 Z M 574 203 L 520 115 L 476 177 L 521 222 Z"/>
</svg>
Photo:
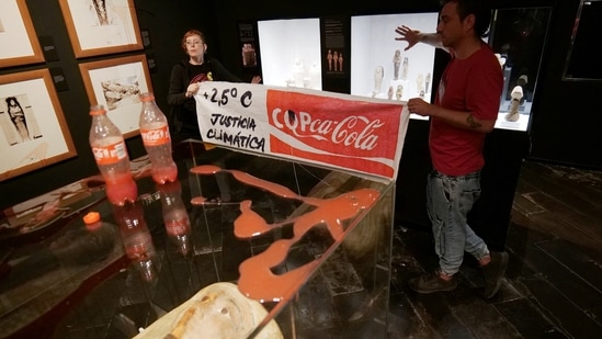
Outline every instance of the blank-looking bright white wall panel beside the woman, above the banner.
<svg viewBox="0 0 602 339">
<path fill-rule="evenodd" d="M 320 20 L 258 21 L 264 84 L 321 90 Z"/>
</svg>

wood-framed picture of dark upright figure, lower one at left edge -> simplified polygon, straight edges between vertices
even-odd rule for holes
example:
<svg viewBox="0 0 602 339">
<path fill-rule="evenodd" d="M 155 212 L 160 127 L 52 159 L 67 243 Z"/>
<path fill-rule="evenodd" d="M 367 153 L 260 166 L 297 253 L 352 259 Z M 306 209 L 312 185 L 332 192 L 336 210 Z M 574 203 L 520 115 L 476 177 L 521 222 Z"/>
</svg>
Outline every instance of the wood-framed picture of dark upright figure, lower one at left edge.
<svg viewBox="0 0 602 339">
<path fill-rule="evenodd" d="M 75 157 L 50 72 L 0 76 L 0 181 Z"/>
</svg>

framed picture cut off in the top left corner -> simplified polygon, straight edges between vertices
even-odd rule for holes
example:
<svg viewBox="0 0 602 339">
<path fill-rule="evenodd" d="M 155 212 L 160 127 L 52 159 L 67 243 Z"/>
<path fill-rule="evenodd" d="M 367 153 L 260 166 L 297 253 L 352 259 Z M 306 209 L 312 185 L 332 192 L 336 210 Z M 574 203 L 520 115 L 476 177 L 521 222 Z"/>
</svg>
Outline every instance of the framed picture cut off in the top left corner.
<svg viewBox="0 0 602 339">
<path fill-rule="evenodd" d="M 0 2 L 0 68 L 44 61 L 25 0 Z"/>
</svg>

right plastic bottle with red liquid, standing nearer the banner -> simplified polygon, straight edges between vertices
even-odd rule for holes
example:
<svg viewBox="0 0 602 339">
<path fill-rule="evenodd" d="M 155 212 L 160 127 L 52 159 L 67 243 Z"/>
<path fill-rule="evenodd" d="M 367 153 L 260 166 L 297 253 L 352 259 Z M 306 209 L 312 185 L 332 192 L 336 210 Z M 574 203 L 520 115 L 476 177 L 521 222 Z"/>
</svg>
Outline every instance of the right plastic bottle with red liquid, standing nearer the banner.
<svg viewBox="0 0 602 339">
<path fill-rule="evenodd" d="M 146 152 L 150 158 L 152 180 L 157 183 L 174 181 L 178 178 L 178 167 L 171 155 L 171 137 L 167 117 L 155 102 L 152 93 L 141 93 L 140 101 L 143 102 L 140 134 Z"/>
</svg>

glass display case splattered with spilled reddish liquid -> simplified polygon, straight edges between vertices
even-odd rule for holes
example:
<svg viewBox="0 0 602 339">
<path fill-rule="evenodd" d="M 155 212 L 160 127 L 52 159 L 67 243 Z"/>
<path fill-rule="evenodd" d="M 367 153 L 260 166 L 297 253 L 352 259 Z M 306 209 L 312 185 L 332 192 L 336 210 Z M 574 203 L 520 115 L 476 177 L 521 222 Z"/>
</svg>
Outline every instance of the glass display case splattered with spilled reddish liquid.
<svg viewBox="0 0 602 339">
<path fill-rule="evenodd" d="M 133 204 L 110 205 L 94 177 L 37 201 L 58 217 L 26 231 L 4 215 L 2 337 L 163 338 L 194 310 L 186 326 L 217 336 L 386 338 L 393 181 L 195 142 L 174 154 L 167 185 L 133 162 Z M 168 200 L 184 222 L 166 223 Z M 89 211 L 104 236 L 84 227 Z"/>
</svg>

